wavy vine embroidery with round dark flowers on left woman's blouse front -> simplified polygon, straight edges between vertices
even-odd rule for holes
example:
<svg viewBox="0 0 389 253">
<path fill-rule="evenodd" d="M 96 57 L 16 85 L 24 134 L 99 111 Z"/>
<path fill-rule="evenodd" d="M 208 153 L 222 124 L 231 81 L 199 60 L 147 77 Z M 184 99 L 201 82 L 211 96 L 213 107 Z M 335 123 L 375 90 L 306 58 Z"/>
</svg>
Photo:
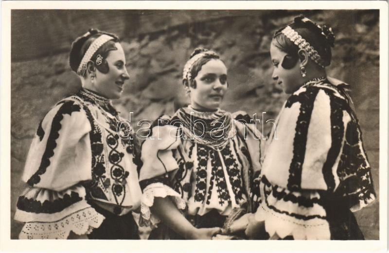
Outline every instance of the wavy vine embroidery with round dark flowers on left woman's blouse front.
<svg viewBox="0 0 389 253">
<path fill-rule="evenodd" d="M 113 182 L 111 188 L 116 203 L 118 205 L 121 205 L 124 201 L 125 196 L 125 179 L 128 177 L 129 172 L 125 171 L 124 168 L 119 165 L 119 163 L 122 161 L 122 158 L 124 157 L 124 153 L 117 151 L 117 147 L 119 146 L 118 140 L 119 135 L 109 134 L 106 137 L 108 147 L 111 148 L 111 151 L 108 154 L 108 160 L 111 164 L 113 164 L 110 173 L 112 179 L 115 181 Z"/>
</svg>

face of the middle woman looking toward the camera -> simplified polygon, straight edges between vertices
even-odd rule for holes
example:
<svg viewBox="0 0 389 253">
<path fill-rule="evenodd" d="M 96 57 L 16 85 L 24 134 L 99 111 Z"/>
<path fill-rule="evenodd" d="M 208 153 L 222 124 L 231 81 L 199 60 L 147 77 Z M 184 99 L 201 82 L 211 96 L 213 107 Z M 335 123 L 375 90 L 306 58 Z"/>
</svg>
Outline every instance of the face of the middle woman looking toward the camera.
<svg viewBox="0 0 389 253">
<path fill-rule="evenodd" d="M 190 87 L 191 106 L 203 111 L 215 111 L 227 91 L 227 67 L 212 59 L 201 67 L 195 77 L 196 87 Z"/>
</svg>

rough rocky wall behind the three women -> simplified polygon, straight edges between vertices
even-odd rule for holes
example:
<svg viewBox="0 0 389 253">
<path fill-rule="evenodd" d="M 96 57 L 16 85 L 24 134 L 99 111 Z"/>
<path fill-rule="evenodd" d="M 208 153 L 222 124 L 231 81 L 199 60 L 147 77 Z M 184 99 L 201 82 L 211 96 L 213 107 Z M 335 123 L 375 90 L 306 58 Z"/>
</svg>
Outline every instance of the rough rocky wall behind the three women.
<svg viewBox="0 0 389 253">
<path fill-rule="evenodd" d="M 379 12 L 342 11 L 159 11 L 13 10 L 11 62 L 11 237 L 20 177 L 37 125 L 61 98 L 81 83 L 68 64 L 71 41 L 89 27 L 122 38 L 131 79 L 115 101 L 134 122 L 172 114 L 187 102 L 182 67 L 196 47 L 218 51 L 229 68 L 222 107 L 274 119 L 286 96 L 271 80 L 269 43 L 273 32 L 300 13 L 336 34 L 330 76 L 352 85 L 351 97 L 379 199 Z M 264 126 L 265 134 L 272 124 Z M 259 130 L 262 131 L 261 126 Z M 366 239 L 379 238 L 379 201 L 356 213 Z"/>
</svg>

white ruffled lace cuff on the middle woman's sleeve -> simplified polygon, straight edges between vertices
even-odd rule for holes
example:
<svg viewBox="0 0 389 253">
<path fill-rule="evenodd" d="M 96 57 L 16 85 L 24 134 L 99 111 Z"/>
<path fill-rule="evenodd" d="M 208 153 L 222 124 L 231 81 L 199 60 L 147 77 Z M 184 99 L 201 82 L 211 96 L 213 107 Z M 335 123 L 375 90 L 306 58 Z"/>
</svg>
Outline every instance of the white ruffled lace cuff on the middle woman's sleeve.
<svg viewBox="0 0 389 253">
<path fill-rule="evenodd" d="M 139 219 L 141 227 L 150 226 L 155 228 L 157 226 L 160 220 L 151 213 L 150 207 L 153 206 L 155 197 L 165 198 L 167 196 L 170 196 L 170 199 L 176 204 L 178 209 L 185 209 L 186 202 L 177 191 L 169 186 L 162 183 L 154 183 L 144 188 L 141 200 L 141 217 Z"/>
</svg>

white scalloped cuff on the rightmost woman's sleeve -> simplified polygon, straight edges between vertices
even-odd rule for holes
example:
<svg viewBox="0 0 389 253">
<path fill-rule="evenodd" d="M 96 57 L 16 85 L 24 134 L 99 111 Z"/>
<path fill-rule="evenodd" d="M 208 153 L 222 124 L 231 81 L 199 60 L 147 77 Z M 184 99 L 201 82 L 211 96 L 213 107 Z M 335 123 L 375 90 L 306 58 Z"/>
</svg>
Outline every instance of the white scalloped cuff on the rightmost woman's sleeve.
<svg viewBox="0 0 389 253">
<path fill-rule="evenodd" d="M 330 226 L 325 219 L 296 219 L 276 213 L 263 204 L 255 213 L 257 221 L 265 221 L 265 230 L 270 238 L 293 236 L 295 240 L 329 240 Z"/>
</svg>

